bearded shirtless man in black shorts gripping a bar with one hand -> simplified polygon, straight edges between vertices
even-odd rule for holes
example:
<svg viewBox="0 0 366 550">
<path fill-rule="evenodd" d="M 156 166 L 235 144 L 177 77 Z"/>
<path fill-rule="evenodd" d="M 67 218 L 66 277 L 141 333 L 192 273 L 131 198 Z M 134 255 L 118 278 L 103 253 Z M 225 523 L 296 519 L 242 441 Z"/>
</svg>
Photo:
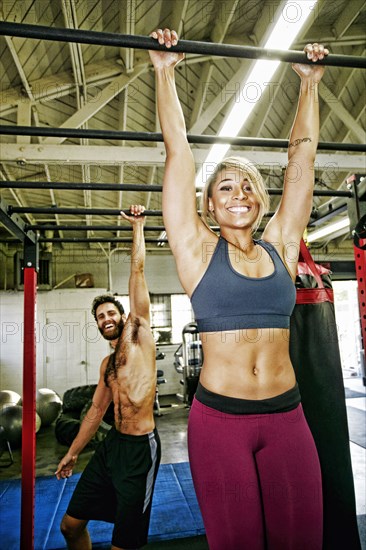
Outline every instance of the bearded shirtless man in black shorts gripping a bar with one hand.
<svg viewBox="0 0 366 550">
<path fill-rule="evenodd" d="M 144 275 L 143 206 L 122 216 L 133 227 L 129 280 L 130 314 L 113 296 L 95 298 L 92 313 L 114 353 L 100 367 L 92 405 L 78 435 L 57 467 L 57 479 L 70 477 L 111 401 L 115 427 L 100 443 L 75 488 L 61 531 L 71 550 L 92 548 L 90 519 L 114 523 L 112 550 L 145 545 L 154 483 L 160 463 L 160 440 L 153 403 L 156 387 L 155 342 L 150 330 L 149 293 Z"/>
</svg>

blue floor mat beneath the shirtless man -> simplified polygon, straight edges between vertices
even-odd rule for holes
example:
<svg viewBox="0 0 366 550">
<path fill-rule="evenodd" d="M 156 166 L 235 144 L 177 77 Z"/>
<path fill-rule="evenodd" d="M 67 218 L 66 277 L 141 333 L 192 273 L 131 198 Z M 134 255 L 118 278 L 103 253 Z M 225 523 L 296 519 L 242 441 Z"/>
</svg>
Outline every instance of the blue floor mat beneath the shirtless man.
<svg viewBox="0 0 366 550">
<path fill-rule="evenodd" d="M 64 549 L 60 522 L 80 474 L 57 481 L 54 476 L 36 479 L 35 550 Z M 0 482 L 0 548 L 19 548 L 21 481 Z M 91 521 L 93 543 L 109 543 L 113 525 Z M 188 462 L 162 464 L 154 491 L 149 542 L 204 534 Z"/>
</svg>

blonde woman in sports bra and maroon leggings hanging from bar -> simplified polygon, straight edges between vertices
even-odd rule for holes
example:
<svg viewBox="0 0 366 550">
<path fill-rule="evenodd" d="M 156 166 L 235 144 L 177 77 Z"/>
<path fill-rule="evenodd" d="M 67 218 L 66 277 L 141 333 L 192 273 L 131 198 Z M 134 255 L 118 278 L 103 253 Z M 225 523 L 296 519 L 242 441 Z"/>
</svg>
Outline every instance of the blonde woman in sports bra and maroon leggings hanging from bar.
<svg viewBox="0 0 366 550">
<path fill-rule="evenodd" d="M 151 35 L 167 48 L 169 29 Z M 328 54 L 308 44 L 308 59 Z M 204 352 L 189 416 L 192 477 L 211 550 L 320 550 L 321 473 L 289 357 L 300 239 L 308 223 L 324 67 L 296 64 L 300 94 L 279 207 L 244 158 L 218 162 L 196 210 L 195 163 L 174 69 L 184 54 L 150 51 L 166 147 L 163 215 Z M 305 56 L 304 56 L 305 57 Z M 218 237 L 208 219 L 220 226 Z"/>
</svg>

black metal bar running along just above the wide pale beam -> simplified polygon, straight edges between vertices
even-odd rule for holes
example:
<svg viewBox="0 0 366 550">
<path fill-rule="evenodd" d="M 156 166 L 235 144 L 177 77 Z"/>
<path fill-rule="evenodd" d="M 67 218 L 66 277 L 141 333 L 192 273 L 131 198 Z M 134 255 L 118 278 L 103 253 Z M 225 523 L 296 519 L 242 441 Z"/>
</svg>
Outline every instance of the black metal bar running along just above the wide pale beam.
<svg viewBox="0 0 366 550">
<path fill-rule="evenodd" d="M 0 23 L 1 24 L 1 23 Z M 0 135 L 6 136 L 37 136 L 37 137 L 61 137 L 61 138 L 85 138 L 85 139 L 105 139 L 119 141 L 146 141 L 163 142 L 163 134 L 159 132 L 124 132 L 116 130 L 85 130 L 82 128 L 49 128 L 40 126 L 15 126 L 1 125 Z M 228 137 L 228 136 L 209 136 L 187 134 L 189 143 L 211 145 L 215 143 L 228 143 L 230 145 L 240 145 L 242 147 L 261 147 L 287 149 L 287 139 L 255 138 L 255 137 Z M 330 141 L 320 141 L 318 143 L 319 151 L 349 151 L 365 152 L 364 143 L 332 143 Z"/>
</svg>

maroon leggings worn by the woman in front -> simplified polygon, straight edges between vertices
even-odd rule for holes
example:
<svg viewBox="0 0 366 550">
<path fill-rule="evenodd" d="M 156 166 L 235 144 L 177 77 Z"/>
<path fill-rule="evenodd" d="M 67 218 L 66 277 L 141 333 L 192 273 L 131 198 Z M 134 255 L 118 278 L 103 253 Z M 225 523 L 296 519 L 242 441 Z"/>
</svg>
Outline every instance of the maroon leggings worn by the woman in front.
<svg viewBox="0 0 366 550">
<path fill-rule="evenodd" d="M 188 450 L 210 550 L 321 550 L 320 466 L 301 404 L 228 414 L 195 398 Z"/>
</svg>

